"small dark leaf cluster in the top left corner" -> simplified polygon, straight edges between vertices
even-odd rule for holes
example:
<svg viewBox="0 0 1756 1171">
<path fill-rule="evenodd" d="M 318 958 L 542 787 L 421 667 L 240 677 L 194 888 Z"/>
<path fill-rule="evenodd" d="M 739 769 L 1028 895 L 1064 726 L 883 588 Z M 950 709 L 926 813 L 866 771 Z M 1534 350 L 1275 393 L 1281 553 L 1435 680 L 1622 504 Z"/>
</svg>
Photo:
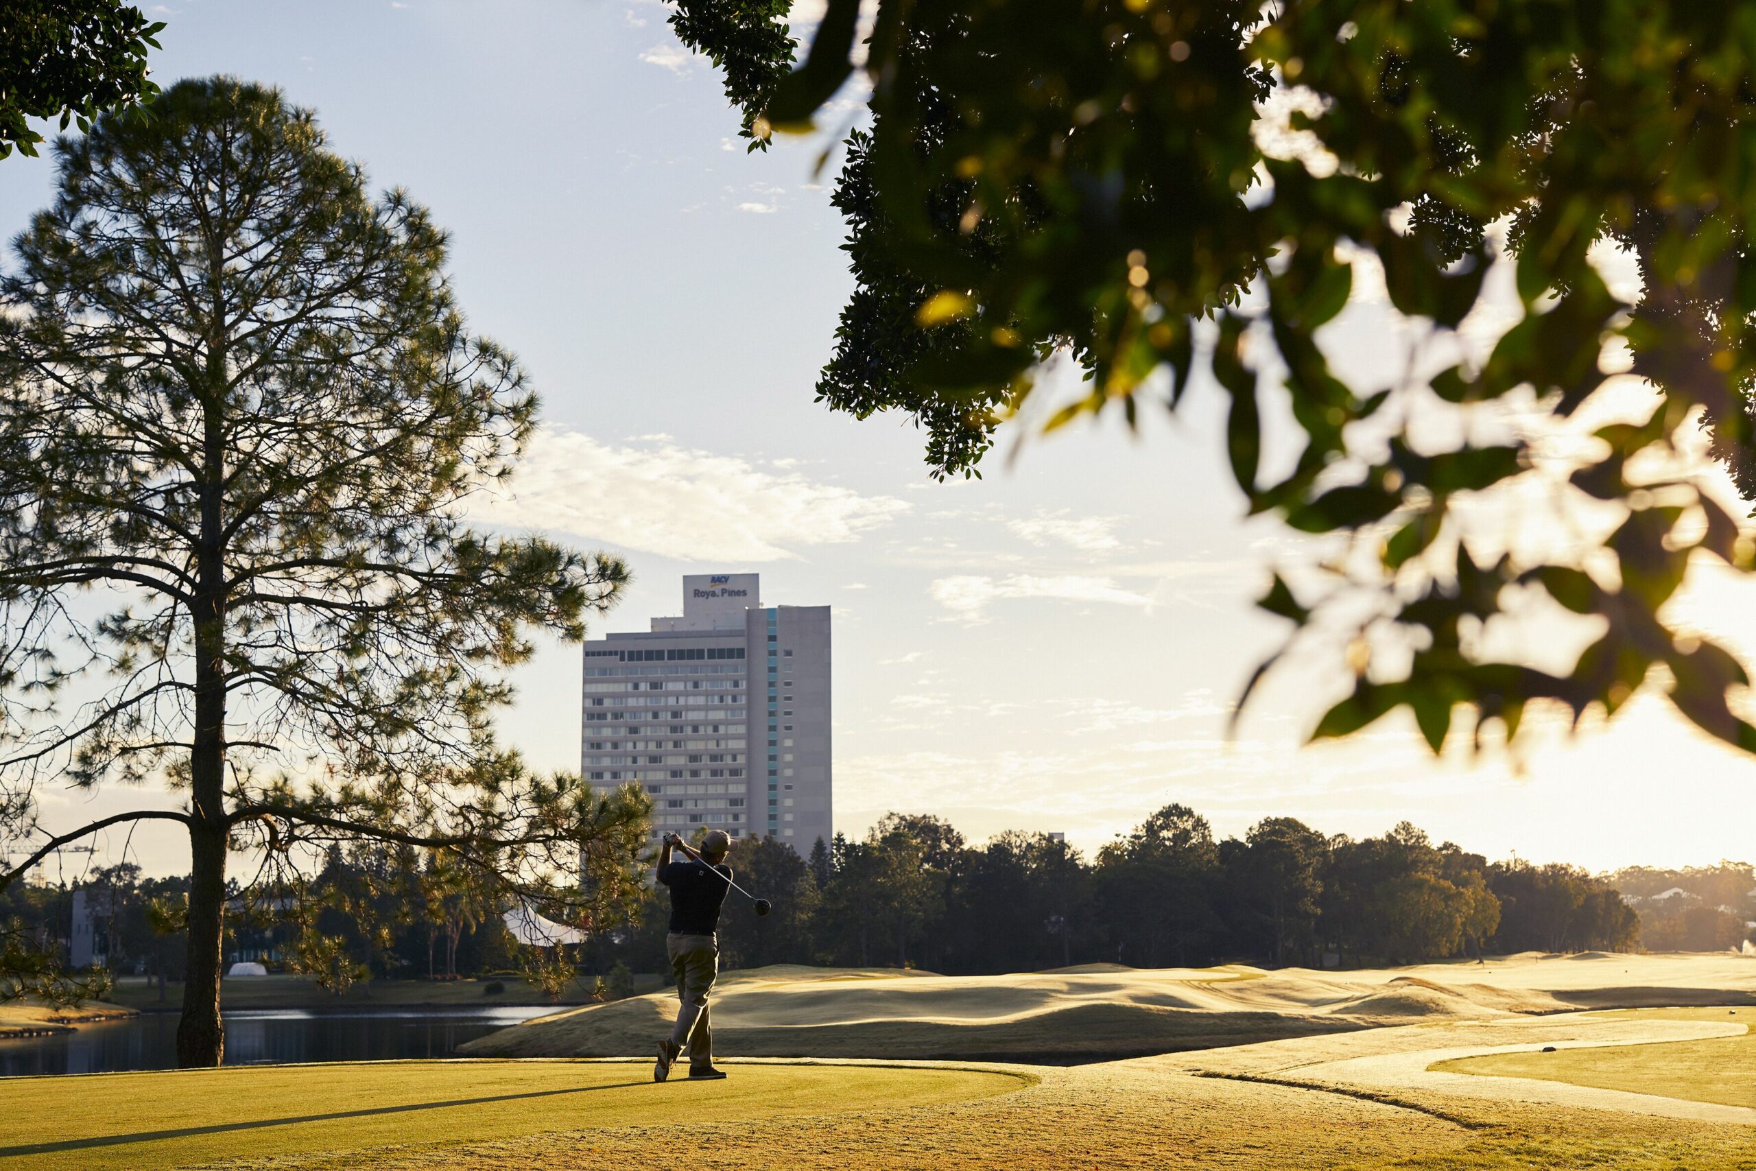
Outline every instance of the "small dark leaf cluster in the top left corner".
<svg viewBox="0 0 1756 1171">
<path fill-rule="evenodd" d="M 142 114 L 158 97 L 146 51 L 163 21 L 116 0 L 5 0 L 0 4 L 0 158 L 16 146 L 37 154 L 42 135 L 28 118 L 60 118 L 81 132 L 104 111 Z"/>
</svg>

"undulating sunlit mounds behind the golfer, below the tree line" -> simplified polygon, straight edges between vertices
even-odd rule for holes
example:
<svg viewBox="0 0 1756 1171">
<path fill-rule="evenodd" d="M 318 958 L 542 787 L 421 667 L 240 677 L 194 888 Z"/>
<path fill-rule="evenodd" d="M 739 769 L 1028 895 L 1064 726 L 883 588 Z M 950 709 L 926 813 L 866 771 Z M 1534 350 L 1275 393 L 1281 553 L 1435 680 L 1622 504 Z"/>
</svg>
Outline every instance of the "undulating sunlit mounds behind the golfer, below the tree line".
<svg viewBox="0 0 1756 1171">
<path fill-rule="evenodd" d="M 1528 953 L 1349 973 L 1238 964 L 1090 964 L 1008 976 L 755 969 L 729 973 L 713 1022 L 716 1050 L 739 1057 L 1085 1062 L 1410 1022 L 1740 1002 L 1756 1004 L 1752 957 Z M 643 995 L 502 1029 L 464 1052 L 641 1055 L 674 1013 L 673 995 Z"/>
</svg>

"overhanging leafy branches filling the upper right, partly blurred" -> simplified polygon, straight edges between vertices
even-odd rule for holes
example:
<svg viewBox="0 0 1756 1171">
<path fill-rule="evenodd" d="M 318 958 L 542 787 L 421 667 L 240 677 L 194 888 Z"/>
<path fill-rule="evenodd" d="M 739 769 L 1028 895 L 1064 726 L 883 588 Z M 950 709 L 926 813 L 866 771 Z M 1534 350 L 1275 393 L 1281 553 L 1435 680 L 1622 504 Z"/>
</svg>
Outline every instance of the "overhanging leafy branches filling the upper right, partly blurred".
<svg viewBox="0 0 1756 1171">
<path fill-rule="evenodd" d="M 1212 372 L 1249 511 L 1338 546 L 1319 581 L 1277 576 L 1261 602 L 1357 678 L 1315 736 L 1407 706 L 1438 751 L 1461 706 L 1477 737 L 1498 722 L 1514 739 L 1531 702 L 1614 715 L 1652 678 L 1756 751 L 1726 702 L 1744 667 L 1663 613 L 1691 562 L 1752 565 L 1677 458 L 1710 427 L 1756 495 L 1749 5 L 880 0 L 860 58 L 857 0 L 829 0 L 790 74 L 787 39 L 753 35 L 767 5 L 687 11 L 687 44 L 736 51 L 746 125 L 808 125 L 855 67 L 871 88 L 834 193 L 855 291 L 818 383 L 831 407 L 904 411 L 932 472 L 969 476 L 1052 355 L 1085 388 L 1048 430 L 1177 409 Z M 1637 304 L 1594 244 L 1633 253 Z M 1517 320 L 1472 355 L 1459 327 L 1489 330 L 1496 263 L 1515 267 Z M 1424 337 L 1401 376 L 1352 386 L 1321 332 L 1380 270 Z M 1623 344 L 1663 393 L 1545 451 L 1614 393 L 1601 358 Z M 1268 474 L 1282 414 L 1301 449 Z M 1480 495 L 1552 539 L 1466 530 Z M 1580 521 L 1603 509 L 1619 523 Z M 1540 597 L 1607 620 L 1570 669 L 1484 646 Z"/>
</svg>

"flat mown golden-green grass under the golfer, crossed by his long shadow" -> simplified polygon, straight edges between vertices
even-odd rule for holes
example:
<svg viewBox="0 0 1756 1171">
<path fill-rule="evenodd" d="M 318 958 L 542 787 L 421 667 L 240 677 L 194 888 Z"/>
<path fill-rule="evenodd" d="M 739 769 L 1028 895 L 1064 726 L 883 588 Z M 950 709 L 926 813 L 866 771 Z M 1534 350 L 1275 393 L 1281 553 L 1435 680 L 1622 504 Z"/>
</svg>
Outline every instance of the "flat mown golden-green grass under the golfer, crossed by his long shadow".
<svg viewBox="0 0 1756 1171">
<path fill-rule="evenodd" d="M 18 1078 L 0 1083 L 0 1167 L 153 1171 L 220 1159 L 522 1139 L 978 1099 L 1026 1078 L 969 1069 L 729 1064 L 653 1085 L 650 1062 L 376 1062 Z"/>
</svg>

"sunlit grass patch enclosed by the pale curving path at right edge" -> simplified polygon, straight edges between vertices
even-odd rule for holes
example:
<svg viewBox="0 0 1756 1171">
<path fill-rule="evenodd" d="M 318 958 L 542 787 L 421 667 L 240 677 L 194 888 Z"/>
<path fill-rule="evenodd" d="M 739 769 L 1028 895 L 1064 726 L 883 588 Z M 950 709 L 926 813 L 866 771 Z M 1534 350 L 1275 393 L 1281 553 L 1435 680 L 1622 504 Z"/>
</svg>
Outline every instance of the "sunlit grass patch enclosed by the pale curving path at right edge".
<svg viewBox="0 0 1756 1171">
<path fill-rule="evenodd" d="M 1616 1015 L 1756 1024 L 1756 1009 L 1751 1008 L 1637 1009 Z M 1435 1069 L 1496 1078 L 1566 1081 L 1601 1090 L 1756 1108 L 1756 1032 L 1745 1032 L 1740 1038 L 1607 1045 L 1556 1050 L 1554 1053 L 1493 1053 L 1442 1062 Z"/>
</svg>

